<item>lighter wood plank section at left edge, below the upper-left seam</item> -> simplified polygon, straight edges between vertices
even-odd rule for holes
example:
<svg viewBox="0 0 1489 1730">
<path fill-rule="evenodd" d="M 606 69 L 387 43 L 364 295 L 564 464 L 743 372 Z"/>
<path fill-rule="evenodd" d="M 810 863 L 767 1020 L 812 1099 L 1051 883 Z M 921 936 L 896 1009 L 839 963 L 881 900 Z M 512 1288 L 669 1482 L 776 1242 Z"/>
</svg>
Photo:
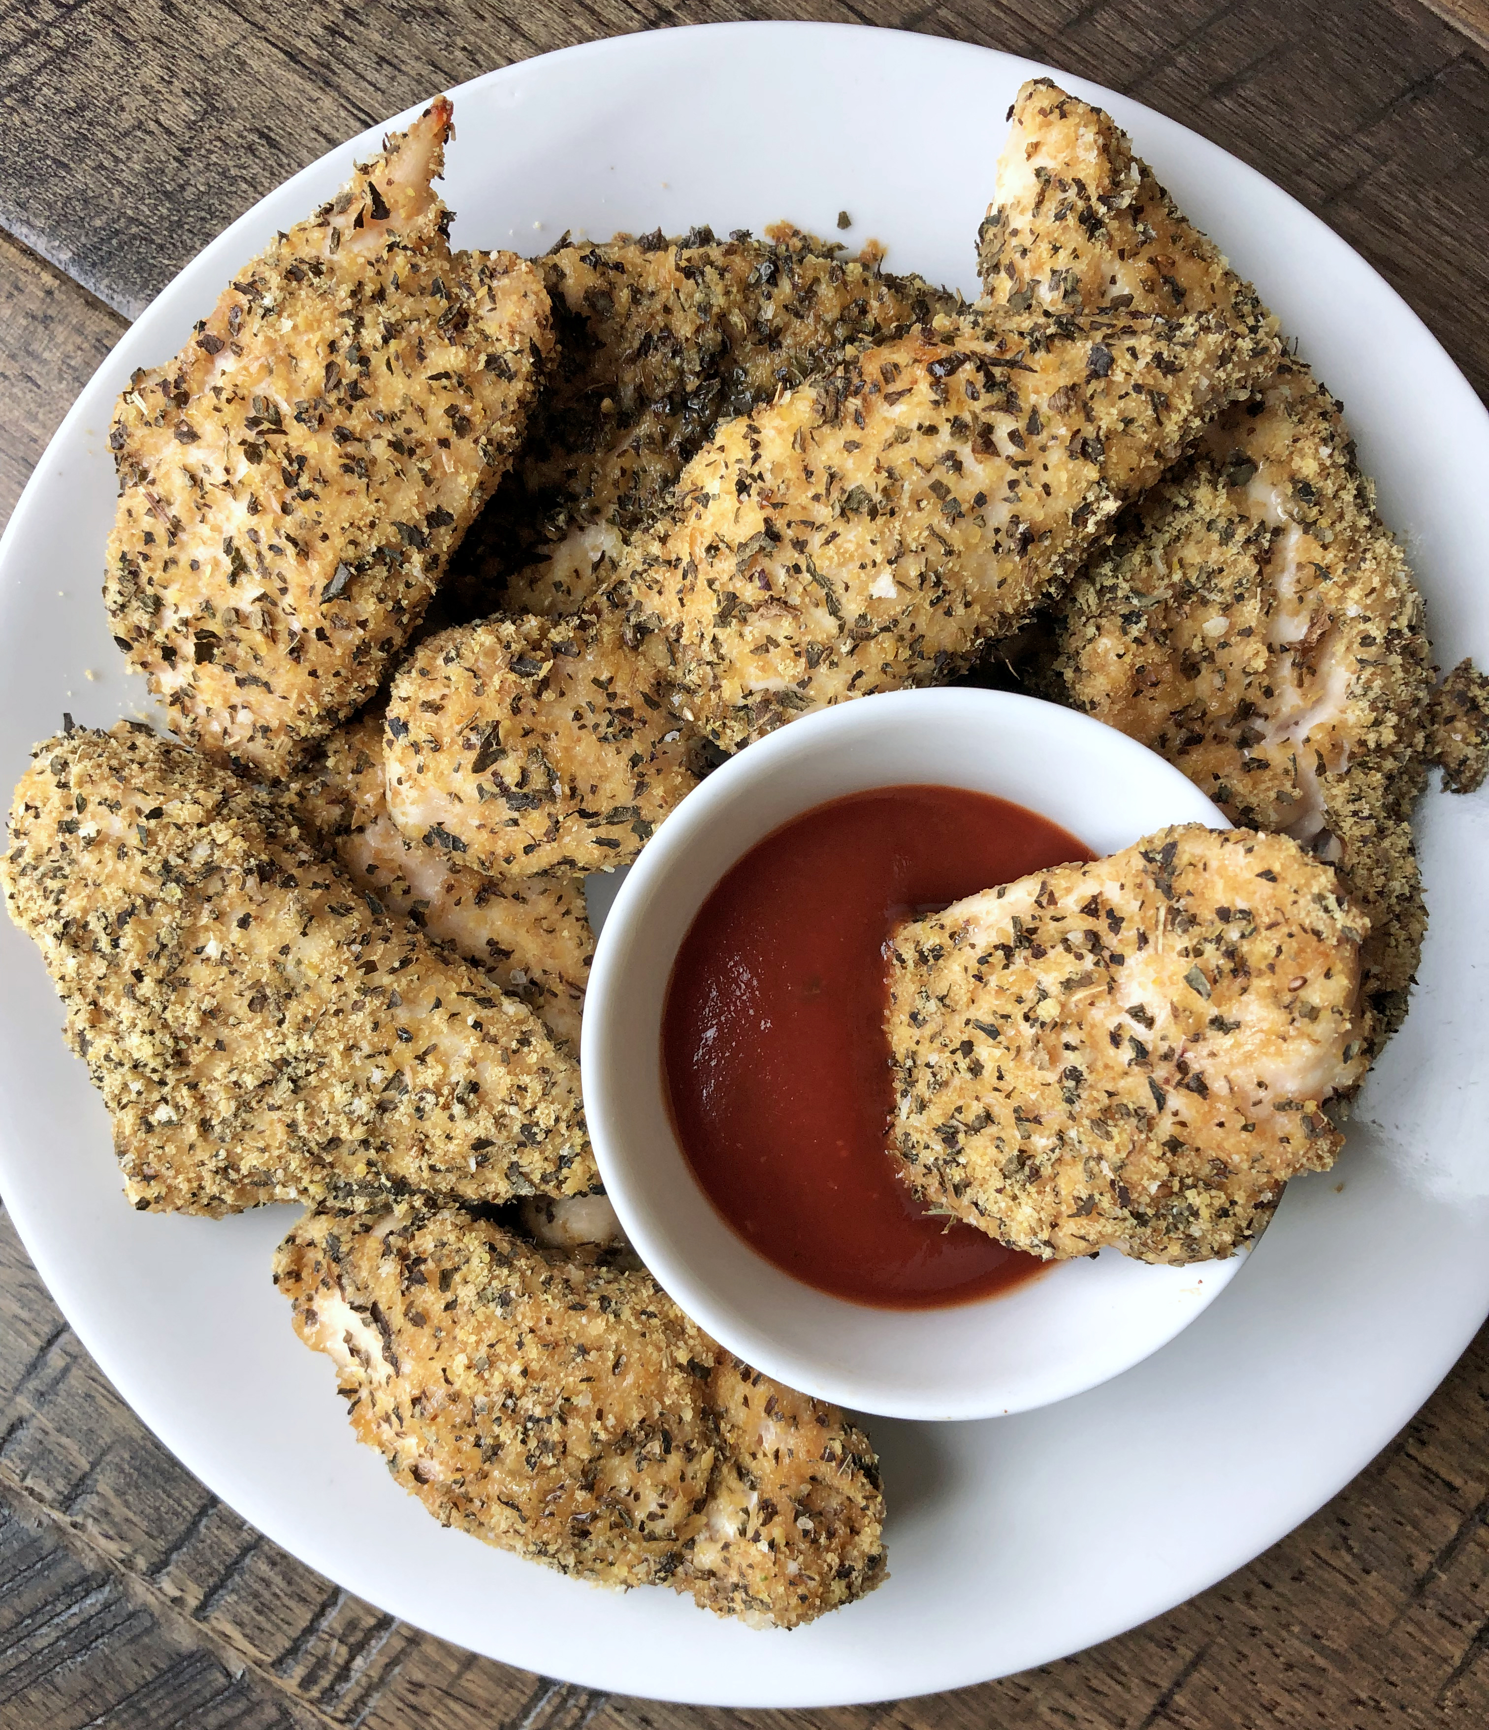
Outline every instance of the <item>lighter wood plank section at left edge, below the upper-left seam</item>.
<svg viewBox="0 0 1489 1730">
<path fill-rule="evenodd" d="M 0 528 L 57 422 L 123 330 L 112 308 L 0 234 Z"/>
</svg>

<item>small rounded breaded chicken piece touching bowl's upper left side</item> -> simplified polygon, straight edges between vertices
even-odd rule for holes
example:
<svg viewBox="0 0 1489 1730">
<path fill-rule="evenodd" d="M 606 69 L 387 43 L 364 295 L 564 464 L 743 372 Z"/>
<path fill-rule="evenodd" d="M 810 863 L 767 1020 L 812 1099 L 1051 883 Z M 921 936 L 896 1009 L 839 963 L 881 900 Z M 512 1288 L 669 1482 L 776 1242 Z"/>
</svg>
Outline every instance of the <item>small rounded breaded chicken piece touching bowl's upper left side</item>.
<svg viewBox="0 0 1489 1730">
<path fill-rule="evenodd" d="M 697 785 L 697 734 L 666 697 L 604 614 L 441 631 L 393 683 L 393 822 L 493 877 L 624 863 Z"/>
</svg>

